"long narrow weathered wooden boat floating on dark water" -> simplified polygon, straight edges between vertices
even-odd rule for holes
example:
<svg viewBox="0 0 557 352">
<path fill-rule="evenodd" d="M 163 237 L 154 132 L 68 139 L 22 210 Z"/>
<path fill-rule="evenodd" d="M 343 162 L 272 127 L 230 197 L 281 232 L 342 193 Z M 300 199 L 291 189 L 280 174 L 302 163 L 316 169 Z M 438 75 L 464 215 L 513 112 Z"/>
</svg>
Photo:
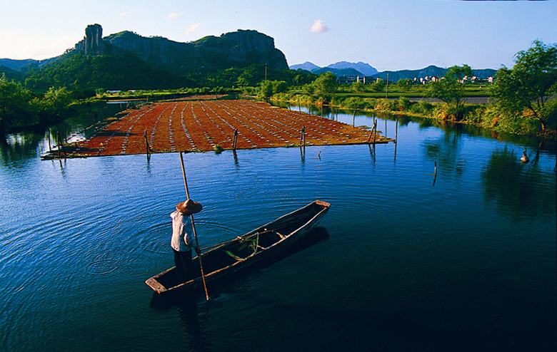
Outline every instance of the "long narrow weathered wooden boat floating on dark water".
<svg viewBox="0 0 557 352">
<path fill-rule="evenodd" d="M 285 252 L 286 249 L 300 242 L 323 219 L 329 207 L 331 205 L 327 202 L 313 201 L 305 207 L 202 253 L 201 263 L 206 284 L 210 286 L 209 284 L 214 284 L 219 279 L 244 271 L 264 259 Z M 151 277 L 145 283 L 157 294 L 202 289 L 199 257 L 192 259 L 191 267 L 190 273 L 193 277 L 187 277 L 185 282 L 176 279 L 176 267 L 173 266 Z"/>
</svg>

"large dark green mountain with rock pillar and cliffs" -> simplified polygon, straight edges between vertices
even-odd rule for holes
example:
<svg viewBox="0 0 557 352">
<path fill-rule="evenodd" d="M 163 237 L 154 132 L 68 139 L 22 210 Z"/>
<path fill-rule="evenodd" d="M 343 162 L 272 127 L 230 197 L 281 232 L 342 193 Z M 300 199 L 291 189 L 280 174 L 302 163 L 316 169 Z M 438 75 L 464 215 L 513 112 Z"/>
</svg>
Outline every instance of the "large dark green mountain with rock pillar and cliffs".
<svg viewBox="0 0 557 352">
<path fill-rule="evenodd" d="M 82 41 L 44 65 L 3 60 L 19 68 L 19 81 L 25 81 L 33 90 L 50 86 L 121 90 L 235 86 L 244 71 L 259 71 L 259 75 L 244 74 L 241 80 L 244 85 L 255 86 L 264 80 L 265 71 L 269 76 L 289 71 L 286 57 L 274 47 L 274 39 L 257 31 L 239 30 L 179 43 L 160 36 L 146 38 L 131 31 L 103 38 L 99 24 L 87 26 Z M 4 71 L 18 79 L 13 68 L 6 66 Z M 220 81 L 219 75 L 224 71 L 229 71 L 224 75 L 227 80 Z"/>
</svg>

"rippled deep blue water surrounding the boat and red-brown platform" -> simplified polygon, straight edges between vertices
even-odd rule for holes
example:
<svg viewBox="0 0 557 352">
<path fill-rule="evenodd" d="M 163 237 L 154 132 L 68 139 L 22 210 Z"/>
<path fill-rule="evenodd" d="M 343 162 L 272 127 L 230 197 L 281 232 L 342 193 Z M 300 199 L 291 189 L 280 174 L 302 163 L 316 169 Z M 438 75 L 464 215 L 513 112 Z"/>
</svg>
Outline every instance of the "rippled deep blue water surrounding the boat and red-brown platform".
<svg viewBox="0 0 557 352">
<path fill-rule="evenodd" d="M 398 143 L 184 155 L 201 247 L 331 203 L 326 239 L 209 303 L 144 284 L 174 265 L 178 154 L 42 161 L 48 133 L 7 136 L 0 350 L 554 351 L 555 145 L 388 116 L 378 130 Z"/>
</svg>

